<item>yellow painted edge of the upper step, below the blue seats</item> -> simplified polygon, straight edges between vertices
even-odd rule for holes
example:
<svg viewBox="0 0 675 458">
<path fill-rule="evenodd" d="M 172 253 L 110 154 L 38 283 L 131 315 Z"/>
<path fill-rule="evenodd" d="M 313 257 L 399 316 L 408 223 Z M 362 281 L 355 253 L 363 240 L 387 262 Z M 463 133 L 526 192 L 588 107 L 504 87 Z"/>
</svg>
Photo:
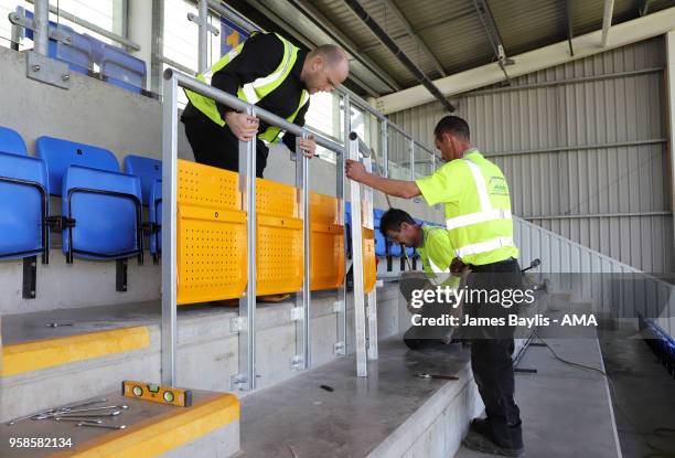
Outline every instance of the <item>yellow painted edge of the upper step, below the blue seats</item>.
<svg viewBox="0 0 675 458">
<path fill-rule="evenodd" d="M 150 347 L 150 331 L 144 326 L 10 344 L 2 348 L 1 375 L 17 375 L 147 347 Z"/>
</svg>

